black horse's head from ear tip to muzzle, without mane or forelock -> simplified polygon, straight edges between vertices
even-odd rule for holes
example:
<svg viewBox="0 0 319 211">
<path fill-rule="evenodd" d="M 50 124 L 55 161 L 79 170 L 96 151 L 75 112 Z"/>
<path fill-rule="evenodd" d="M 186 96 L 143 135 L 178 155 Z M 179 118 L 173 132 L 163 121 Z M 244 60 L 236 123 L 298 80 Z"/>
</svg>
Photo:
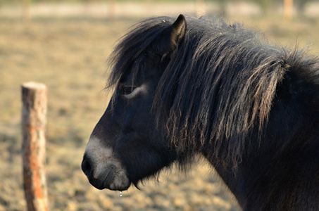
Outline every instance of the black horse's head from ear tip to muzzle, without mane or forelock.
<svg viewBox="0 0 319 211">
<path fill-rule="evenodd" d="M 170 139 L 157 129 L 152 103 L 165 64 L 182 41 L 184 16 L 164 30 L 140 53 L 142 67 L 122 75 L 104 115 L 96 124 L 82 161 L 82 170 L 96 188 L 123 191 L 130 184 L 156 174 L 177 157 Z"/>
</svg>

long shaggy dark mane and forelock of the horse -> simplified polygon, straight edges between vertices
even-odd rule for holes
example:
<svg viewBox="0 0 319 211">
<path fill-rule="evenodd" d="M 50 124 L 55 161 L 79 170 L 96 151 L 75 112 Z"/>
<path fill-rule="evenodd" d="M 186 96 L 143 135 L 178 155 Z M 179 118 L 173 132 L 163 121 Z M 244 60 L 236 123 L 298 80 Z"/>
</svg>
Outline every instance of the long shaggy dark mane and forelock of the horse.
<svg viewBox="0 0 319 211">
<path fill-rule="evenodd" d="M 138 77 L 139 56 L 174 20 L 145 20 L 121 39 L 111 55 L 110 87 L 123 75 Z M 187 17 L 184 41 L 156 88 L 156 123 L 180 153 L 213 144 L 215 158 L 237 166 L 247 137 L 265 128 L 277 85 L 302 55 L 264 43 L 238 23 Z"/>
</svg>

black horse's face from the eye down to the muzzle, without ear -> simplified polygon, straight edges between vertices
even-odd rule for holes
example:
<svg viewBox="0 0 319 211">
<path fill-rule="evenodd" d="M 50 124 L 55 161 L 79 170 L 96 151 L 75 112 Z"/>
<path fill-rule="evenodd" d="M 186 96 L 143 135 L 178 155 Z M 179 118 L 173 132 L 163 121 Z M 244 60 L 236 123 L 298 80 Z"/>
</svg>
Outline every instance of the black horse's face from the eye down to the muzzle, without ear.
<svg viewBox="0 0 319 211">
<path fill-rule="evenodd" d="M 89 139 L 82 169 L 96 188 L 125 190 L 175 158 L 154 127 L 151 104 L 157 79 L 151 73 L 156 68 L 147 68 L 141 83 L 123 79 L 118 84 Z"/>
</svg>

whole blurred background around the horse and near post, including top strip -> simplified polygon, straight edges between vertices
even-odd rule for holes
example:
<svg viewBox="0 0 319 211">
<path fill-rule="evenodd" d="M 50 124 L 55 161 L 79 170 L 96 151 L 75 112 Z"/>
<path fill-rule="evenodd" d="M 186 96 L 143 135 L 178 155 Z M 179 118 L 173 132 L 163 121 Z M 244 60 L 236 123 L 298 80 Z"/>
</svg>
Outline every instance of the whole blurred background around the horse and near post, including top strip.
<svg viewBox="0 0 319 211">
<path fill-rule="evenodd" d="M 319 55 L 318 0 L 0 0 L 0 210 L 26 210 L 20 131 L 23 82 L 47 85 L 46 177 L 50 210 L 238 210 L 204 160 L 175 168 L 142 191 L 98 191 L 80 170 L 109 93 L 106 58 L 139 20 L 180 13 L 224 18 L 270 43 Z"/>
</svg>

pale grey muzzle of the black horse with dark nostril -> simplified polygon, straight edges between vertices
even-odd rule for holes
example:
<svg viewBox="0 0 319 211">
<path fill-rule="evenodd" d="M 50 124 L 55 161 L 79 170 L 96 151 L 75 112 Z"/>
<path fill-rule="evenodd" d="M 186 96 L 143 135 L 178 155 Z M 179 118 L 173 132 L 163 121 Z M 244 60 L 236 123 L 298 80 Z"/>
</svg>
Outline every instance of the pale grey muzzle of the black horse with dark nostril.
<svg viewBox="0 0 319 211">
<path fill-rule="evenodd" d="M 87 143 L 82 170 L 89 183 L 98 189 L 108 188 L 113 191 L 125 191 L 130 187 L 130 179 L 112 148 L 101 144 L 101 140 L 92 136 Z"/>
</svg>

